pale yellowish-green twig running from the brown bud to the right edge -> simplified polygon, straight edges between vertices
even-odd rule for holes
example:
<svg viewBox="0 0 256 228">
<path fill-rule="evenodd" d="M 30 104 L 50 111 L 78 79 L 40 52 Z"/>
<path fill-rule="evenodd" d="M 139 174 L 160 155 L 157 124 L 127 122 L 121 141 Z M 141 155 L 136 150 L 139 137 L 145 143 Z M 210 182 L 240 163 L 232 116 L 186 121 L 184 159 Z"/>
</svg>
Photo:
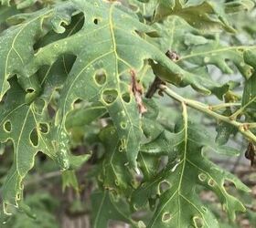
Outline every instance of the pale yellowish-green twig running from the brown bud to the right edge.
<svg viewBox="0 0 256 228">
<path fill-rule="evenodd" d="M 249 130 L 251 128 L 251 126 L 255 127 L 256 123 L 240 123 L 234 119 L 230 119 L 229 117 L 220 115 L 219 113 L 213 111 L 211 109 L 211 107 L 208 105 L 205 105 L 205 104 L 198 102 L 196 100 L 193 100 L 193 99 L 187 99 L 187 98 L 181 97 L 175 91 L 173 91 L 170 88 L 167 88 L 165 85 L 160 85 L 159 88 L 161 90 L 163 90 L 163 92 L 165 92 L 165 94 L 167 96 L 169 96 L 170 98 L 174 98 L 178 102 L 184 103 L 190 108 L 197 109 L 198 111 L 201 111 L 210 117 L 227 122 L 227 123 L 235 126 L 236 128 L 238 128 L 238 130 L 240 130 L 240 133 L 242 135 L 244 135 L 249 140 L 256 142 L 256 136 L 251 132 L 251 130 Z"/>
</svg>

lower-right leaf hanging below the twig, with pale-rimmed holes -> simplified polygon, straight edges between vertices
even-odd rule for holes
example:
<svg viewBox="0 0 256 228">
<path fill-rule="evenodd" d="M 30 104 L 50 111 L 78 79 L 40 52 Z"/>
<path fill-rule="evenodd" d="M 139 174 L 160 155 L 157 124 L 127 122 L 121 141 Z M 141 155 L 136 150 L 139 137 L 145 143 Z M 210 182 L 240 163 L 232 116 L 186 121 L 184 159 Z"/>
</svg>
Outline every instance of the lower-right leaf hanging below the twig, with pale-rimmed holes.
<svg viewBox="0 0 256 228">
<path fill-rule="evenodd" d="M 187 227 L 188 224 L 218 227 L 213 214 L 200 201 L 197 185 L 218 195 L 230 219 L 235 218 L 236 211 L 245 210 L 241 202 L 225 190 L 224 181 L 232 181 L 243 191 L 249 189 L 232 174 L 208 161 L 203 150 L 209 146 L 208 134 L 188 121 L 187 108 L 185 105 L 183 108 L 183 121 L 176 125 L 176 133 L 169 136 L 173 146 L 169 152 L 177 154 L 176 160 L 170 160 L 155 181 L 144 182 L 133 194 L 136 209 L 152 201 L 155 196 L 159 198 L 155 214 L 147 227 Z"/>
</svg>

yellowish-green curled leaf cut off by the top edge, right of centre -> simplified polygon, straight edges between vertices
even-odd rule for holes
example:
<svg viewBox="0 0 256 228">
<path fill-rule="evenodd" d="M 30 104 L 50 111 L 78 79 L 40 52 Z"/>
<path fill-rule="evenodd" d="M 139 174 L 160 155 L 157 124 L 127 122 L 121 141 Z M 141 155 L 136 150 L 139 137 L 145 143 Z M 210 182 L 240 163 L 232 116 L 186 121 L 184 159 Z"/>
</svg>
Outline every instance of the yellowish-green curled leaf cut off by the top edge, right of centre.
<svg viewBox="0 0 256 228">
<path fill-rule="evenodd" d="M 234 28 L 229 25 L 224 1 L 216 3 L 215 1 L 191 0 L 184 3 L 180 0 L 161 0 L 156 2 L 157 6 L 154 17 L 156 21 L 166 16 L 176 15 L 184 18 L 191 26 L 204 31 L 225 29 L 231 33 L 235 32 Z M 247 7 L 243 5 L 243 2 L 237 2 L 237 5 L 241 6 L 237 10 L 243 10 Z M 251 5 L 253 5 L 252 2 Z M 228 12 L 235 10 L 230 4 L 227 6 L 229 6 Z"/>
</svg>

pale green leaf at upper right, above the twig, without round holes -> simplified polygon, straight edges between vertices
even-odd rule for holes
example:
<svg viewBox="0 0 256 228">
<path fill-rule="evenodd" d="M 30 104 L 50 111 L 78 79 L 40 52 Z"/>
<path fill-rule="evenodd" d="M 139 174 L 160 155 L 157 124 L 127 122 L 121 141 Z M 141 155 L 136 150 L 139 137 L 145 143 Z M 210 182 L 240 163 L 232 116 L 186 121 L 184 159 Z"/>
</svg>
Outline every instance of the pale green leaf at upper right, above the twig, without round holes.
<svg viewBox="0 0 256 228">
<path fill-rule="evenodd" d="M 233 74 L 233 67 L 229 64 L 231 62 L 244 78 L 251 77 L 252 67 L 245 61 L 244 53 L 253 50 L 253 46 L 223 45 L 218 35 L 201 34 L 176 16 L 170 16 L 163 24 L 156 25 L 156 29 L 163 36 L 157 41 L 161 49 L 176 51 L 178 55 L 176 64 L 184 66 L 187 70 L 191 65 L 192 67 L 214 65 L 224 74 Z"/>
</svg>

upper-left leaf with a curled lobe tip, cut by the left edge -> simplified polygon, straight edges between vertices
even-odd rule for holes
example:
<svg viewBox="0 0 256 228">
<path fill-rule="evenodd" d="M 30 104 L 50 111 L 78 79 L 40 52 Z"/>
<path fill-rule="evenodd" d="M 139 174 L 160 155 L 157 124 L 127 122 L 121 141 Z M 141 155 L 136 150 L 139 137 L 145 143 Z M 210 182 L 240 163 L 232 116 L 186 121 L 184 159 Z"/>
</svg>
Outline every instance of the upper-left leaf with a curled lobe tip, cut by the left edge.
<svg viewBox="0 0 256 228">
<path fill-rule="evenodd" d="M 0 36 L 0 100 L 3 99 L 5 92 L 10 88 L 7 80 L 12 78 L 34 57 L 33 45 L 36 37 L 43 36 L 52 28 L 59 33 L 65 31 L 60 24 L 69 24 L 69 6 L 56 6 L 54 14 L 53 10 L 43 9 L 36 13 L 16 15 L 9 18 L 13 23 L 19 24 L 7 29 Z M 46 27 L 48 29 L 45 29 Z M 19 79 L 26 90 L 33 89 L 36 94 L 39 93 L 40 85 L 37 83 L 37 79 L 31 82 L 27 79 L 22 82 L 23 78 Z"/>
</svg>

